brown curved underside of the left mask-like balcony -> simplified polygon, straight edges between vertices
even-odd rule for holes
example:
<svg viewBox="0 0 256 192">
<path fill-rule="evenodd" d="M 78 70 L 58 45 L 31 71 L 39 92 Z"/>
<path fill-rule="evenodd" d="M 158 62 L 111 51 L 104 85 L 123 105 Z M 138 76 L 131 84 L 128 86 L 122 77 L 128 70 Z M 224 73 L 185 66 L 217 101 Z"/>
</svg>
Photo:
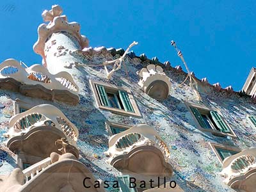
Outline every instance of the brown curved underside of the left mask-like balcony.
<svg viewBox="0 0 256 192">
<path fill-rule="evenodd" d="M 61 138 L 66 138 L 66 136 L 56 127 L 40 126 L 30 129 L 26 134 L 10 138 L 6 146 L 14 153 L 22 151 L 26 154 L 46 158 L 51 155 L 51 152 L 60 154 L 55 141 Z"/>
</svg>

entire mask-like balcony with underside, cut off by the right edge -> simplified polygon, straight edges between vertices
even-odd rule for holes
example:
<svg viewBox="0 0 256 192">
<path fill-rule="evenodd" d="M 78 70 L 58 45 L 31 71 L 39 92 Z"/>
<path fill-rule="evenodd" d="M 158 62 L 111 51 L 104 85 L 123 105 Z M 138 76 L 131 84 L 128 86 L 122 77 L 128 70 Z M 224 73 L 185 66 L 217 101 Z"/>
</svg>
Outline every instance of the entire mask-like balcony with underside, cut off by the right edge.
<svg viewBox="0 0 256 192">
<path fill-rule="evenodd" d="M 254 192 L 256 188 L 256 148 L 248 148 L 223 161 L 223 182 L 233 189 Z"/>
</svg>

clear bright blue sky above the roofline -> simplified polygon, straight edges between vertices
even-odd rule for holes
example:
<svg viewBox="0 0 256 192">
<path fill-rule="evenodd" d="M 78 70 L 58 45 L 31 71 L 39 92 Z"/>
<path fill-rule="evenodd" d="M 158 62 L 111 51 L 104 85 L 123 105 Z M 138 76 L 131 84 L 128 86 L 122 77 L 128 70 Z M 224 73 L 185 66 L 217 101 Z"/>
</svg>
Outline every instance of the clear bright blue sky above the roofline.
<svg viewBox="0 0 256 192">
<path fill-rule="evenodd" d="M 182 65 L 175 40 L 196 77 L 241 90 L 255 65 L 256 1 L 1 1 L 0 62 L 41 63 L 33 52 L 41 13 L 60 4 L 68 21 L 81 24 L 92 47 L 124 48 Z"/>
</svg>

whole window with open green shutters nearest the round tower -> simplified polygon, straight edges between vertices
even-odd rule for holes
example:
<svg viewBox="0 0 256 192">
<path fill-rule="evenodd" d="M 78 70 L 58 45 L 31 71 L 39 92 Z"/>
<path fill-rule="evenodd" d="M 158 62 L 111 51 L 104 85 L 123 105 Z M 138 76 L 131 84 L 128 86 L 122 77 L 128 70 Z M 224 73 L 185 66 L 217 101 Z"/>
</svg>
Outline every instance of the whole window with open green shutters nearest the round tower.
<svg viewBox="0 0 256 192">
<path fill-rule="evenodd" d="M 106 83 L 93 81 L 90 83 L 99 108 L 108 109 L 115 113 L 141 116 L 129 90 Z"/>
</svg>

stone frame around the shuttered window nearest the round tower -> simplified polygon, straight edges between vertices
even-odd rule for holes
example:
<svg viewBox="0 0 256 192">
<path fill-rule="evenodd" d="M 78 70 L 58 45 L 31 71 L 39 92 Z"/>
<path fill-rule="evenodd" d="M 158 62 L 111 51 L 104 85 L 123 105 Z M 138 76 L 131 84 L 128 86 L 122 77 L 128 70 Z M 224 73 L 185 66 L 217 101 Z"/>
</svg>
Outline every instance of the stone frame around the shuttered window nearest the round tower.
<svg viewBox="0 0 256 192">
<path fill-rule="evenodd" d="M 128 116 L 141 117 L 141 113 L 140 113 L 140 110 L 138 108 L 138 105 L 136 104 L 136 100 L 134 99 L 131 90 L 129 90 L 128 88 L 124 88 L 124 87 L 120 87 L 120 86 L 115 86 L 114 84 L 103 83 L 103 82 L 100 82 L 100 81 L 92 81 L 92 80 L 90 80 L 90 84 L 91 84 L 93 95 L 95 97 L 96 104 L 97 104 L 98 108 L 111 111 L 112 113 L 116 113 L 118 115 L 128 115 Z M 131 106 L 132 106 L 134 112 L 125 111 L 124 109 L 118 109 L 118 108 L 111 108 L 111 107 L 108 107 L 108 106 L 102 106 L 102 104 L 100 102 L 100 96 L 99 96 L 99 94 L 97 92 L 96 85 L 104 86 L 104 88 L 106 88 L 108 90 L 113 90 L 113 92 L 118 92 L 118 91 L 126 92 L 128 97 L 129 97 L 129 101 L 131 103 Z M 124 105 L 124 104 L 122 104 L 122 105 Z"/>
</svg>

